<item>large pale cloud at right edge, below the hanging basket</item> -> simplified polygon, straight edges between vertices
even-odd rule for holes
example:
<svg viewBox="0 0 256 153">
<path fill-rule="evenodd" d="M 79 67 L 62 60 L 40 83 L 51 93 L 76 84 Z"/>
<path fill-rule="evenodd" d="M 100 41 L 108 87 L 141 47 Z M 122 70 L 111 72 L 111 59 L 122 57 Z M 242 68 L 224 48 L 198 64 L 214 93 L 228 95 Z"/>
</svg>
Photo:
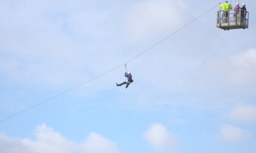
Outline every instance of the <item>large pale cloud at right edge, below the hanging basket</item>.
<svg viewBox="0 0 256 153">
<path fill-rule="evenodd" d="M 188 83 L 200 89 L 243 90 L 256 87 L 256 49 L 228 58 L 209 58 L 200 67 L 200 71 Z M 236 88 L 234 88 L 236 87 Z"/>
</svg>

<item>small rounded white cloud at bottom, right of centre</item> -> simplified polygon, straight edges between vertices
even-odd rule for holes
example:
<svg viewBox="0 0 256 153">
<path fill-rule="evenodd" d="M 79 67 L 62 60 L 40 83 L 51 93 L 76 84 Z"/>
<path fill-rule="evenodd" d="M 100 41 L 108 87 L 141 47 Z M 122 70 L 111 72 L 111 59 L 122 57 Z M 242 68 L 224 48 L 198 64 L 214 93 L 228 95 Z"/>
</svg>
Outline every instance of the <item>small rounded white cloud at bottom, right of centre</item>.
<svg viewBox="0 0 256 153">
<path fill-rule="evenodd" d="M 177 134 L 166 131 L 166 126 L 160 123 L 151 123 L 151 127 L 143 133 L 143 138 L 156 150 L 167 151 L 176 148 L 180 140 Z"/>
</svg>

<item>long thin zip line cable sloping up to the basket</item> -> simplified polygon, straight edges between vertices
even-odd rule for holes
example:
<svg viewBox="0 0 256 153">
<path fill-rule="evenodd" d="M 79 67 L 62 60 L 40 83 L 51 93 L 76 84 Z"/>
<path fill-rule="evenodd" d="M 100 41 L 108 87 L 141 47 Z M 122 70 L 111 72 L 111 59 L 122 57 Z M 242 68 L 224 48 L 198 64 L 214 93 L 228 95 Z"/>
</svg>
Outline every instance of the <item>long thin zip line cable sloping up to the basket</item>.
<svg viewBox="0 0 256 153">
<path fill-rule="evenodd" d="M 224 1 L 223 1 L 223 2 L 224 2 Z M 223 3 L 223 2 L 222 2 L 222 3 Z M 217 5 L 217 6 L 218 6 L 218 5 Z M 215 6 L 214 8 L 216 8 L 217 6 Z M 214 9 L 214 8 L 212 8 L 212 9 Z M 210 9 L 209 11 L 211 11 L 212 9 Z M 208 13 L 209 11 L 205 12 L 204 14 Z M 182 28 L 180 28 L 179 30 L 177 30 L 176 32 L 174 32 L 173 34 L 171 34 L 171 35 L 169 35 L 168 37 L 164 38 L 163 40 L 159 41 L 158 43 L 156 43 L 156 44 L 153 45 L 152 47 L 146 49 L 144 52 L 142 52 L 141 54 L 139 54 L 138 56 L 136 56 L 135 58 L 131 59 L 130 61 L 128 61 L 128 62 L 126 62 L 126 63 L 129 63 L 129 62 L 131 62 L 132 60 L 136 59 L 137 57 L 139 57 L 139 56 L 142 55 L 143 53 L 147 52 L 147 50 L 150 50 L 150 49 L 153 48 L 154 46 L 158 45 L 160 42 L 162 42 L 162 41 L 164 41 L 165 39 L 169 38 L 170 36 L 174 35 L 174 34 L 177 33 L 178 31 L 180 31 L 181 29 L 185 28 L 188 24 L 194 22 L 195 20 L 197 20 L 198 18 L 200 18 L 201 16 L 203 16 L 204 14 L 200 15 L 199 17 L 197 17 L 197 18 L 194 19 L 193 21 L 187 23 L 187 24 L 184 25 Z M 125 63 L 125 64 L 126 64 L 126 63 Z M 120 65 L 120 66 L 118 66 L 118 67 L 116 67 L 116 68 L 114 68 L 114 69 L 112 69 L 112 70 L 110 70 L 110 71 L 108 71 L 108 72 L 105 72 L 105 73 L 103 73 L 103 74 L 101 74 L 101 75 L 98 75 L 98 77 L 95 77 L 95 78 L 93 78 L 93 79 L 91 79 L 91 80 L 89 80 L 89 81 L 87 81 L 87 82 L 84 82 L 84 83 L 82 83 L 82 84 L 80 84 L 80 85 L 78 85 L 78 86 L 75 86 L 75 87 L 73 87 L 73 88 L 67 90 L 67 91 L 64 91 L 64 92 L 62 92 L 62 93 L 60 93 L 60 94 L 58 94 L 58 95 L 55 95 L 55 96 L 53 96 L 53 97 L 51 97 L 51 98 L 49 98 L 49 99 L 47 99 L 47 100 L 45 100 L 45 101 L 42 101 L 41 103 L 36 104 L 36 105 L 34 105 L 34 106 L 32 106 L 32 107 L 26 109 L 26 110 L 23 110 L 23 111 L 21 111 L 21 112 L 19 112 L 19 113 L 16 113 L 16 114 L 14 114 L 14 115 L 12 115 L 12 116 L 10 116 L 10 117 L 7 117 L 7 118 L 1 120 L 0 122 L 2 122 L 2 121 L 4 121 L 4 120 L 7 120 L 7 119 L 9 119 L 9 118 L 11 118 L 11 117 L 13 117 L 13 116 L 16 116 L 16 115 L 18 115 L 18 114 L 20 114 L 20 113 L 22 113 L 22 112 L 25 112 L 25 111 L 27 111 L 27 110 L 33 108 L 33 107 L 36 107 L 37 105 L 40 105 L 40 104 L 42 104 L 42 103 L 45 103 L 46 101 L 48 101 L 48 100 L 50 100 L 50 99 L 52 99 L 52 98 L 55 98 L 55 97 L 57 97 L 57 96 L 59 96 L 59 95 L 61 95 L 61 94 L 63 94 L 63 93 L 66 93 L 66 92 L 68 92 L 68 91 L 70 91 L 70 90 L 72 90 L 72 89 L 75 89 L 75 88 L 77 88 L 77 87 L 79 87 L 79 86 L 81 86 L 81 85 L 83 85 L 83 84 L 86 84 L 86 83 L 88 83 L 88 82 L 90 82 L 90 81 L 92 81 L 92 80 L 94 80 L 94 79 L 96 79 L 96 78 L 99 78 L 99 77 L 101 77 L 102 75 L 104 75 L 104 74 L 106 74 L 106 73 L 109 73 L 109 72 L 111 72 L 111 71 L 113 71 L 113 70 L 115 70 L 115 69 L 117 69 L 117 68 L 119 68 L 119 67 L 121 67 L 121 66 L 123 66 L 123 64 Z"/>
</svg>

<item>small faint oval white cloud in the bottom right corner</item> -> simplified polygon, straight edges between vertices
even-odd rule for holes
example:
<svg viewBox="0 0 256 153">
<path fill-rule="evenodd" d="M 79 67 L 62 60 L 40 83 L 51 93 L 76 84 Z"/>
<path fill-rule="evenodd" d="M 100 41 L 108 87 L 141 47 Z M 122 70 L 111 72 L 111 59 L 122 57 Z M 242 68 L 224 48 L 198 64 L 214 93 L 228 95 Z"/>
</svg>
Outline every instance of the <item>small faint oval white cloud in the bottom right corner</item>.
<svg viewBox="0 0 256 153">
<path fill-rule="evenodd" d="M 246 139 L 249 139 L 252 133 L 248 130 L 242 130 L 236 126 L 223 124 L 220 130 L 220 133 L 217 135 L 220 140 L 235 142 L 235 141 L 245 141 Z"/>
</svg>

